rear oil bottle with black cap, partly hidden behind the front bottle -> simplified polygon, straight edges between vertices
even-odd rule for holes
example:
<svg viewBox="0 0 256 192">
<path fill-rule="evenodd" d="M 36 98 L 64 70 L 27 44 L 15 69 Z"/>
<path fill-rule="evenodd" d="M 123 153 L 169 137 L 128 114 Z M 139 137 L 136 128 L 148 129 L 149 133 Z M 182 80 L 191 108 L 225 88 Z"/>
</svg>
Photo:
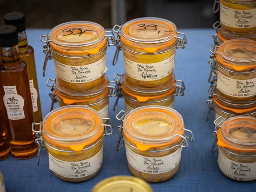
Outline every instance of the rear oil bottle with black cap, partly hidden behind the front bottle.
<svg viewBox="0 0 256 192">
<path fill-rule="evenodd" d="M 40 122 L 42 121 L 42 110 L 41 110 L 39 88 L 38 88 L 38 81 L 37 81 L 37 75 L 36 75 L 34 48 L 28 45 L 28 39 L 26 35 L 25 16 L 21 12 L 11 12 L 4 16 L 4 22 L 7 25 L 14 25 L 17 28 L 20 57 L 24 61 L 26 61 L 28 65 L 28 77 L 30 82 L 34 118 L 36 122 Z"/>
</svg>

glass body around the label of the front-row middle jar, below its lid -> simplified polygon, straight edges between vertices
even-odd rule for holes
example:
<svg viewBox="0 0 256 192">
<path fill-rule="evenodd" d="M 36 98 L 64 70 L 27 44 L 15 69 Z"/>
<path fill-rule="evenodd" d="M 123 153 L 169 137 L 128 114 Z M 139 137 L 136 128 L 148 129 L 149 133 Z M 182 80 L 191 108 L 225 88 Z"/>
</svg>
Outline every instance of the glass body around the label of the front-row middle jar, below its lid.
<svg viewBox="0 0 256 192">
<path fill-rule="evenodd" d="M 165 149 L 171 148 L 171 147 L 179 144 L 180 142 L 181 142 L 181 140 L 178 140 L 177 142 L 170 144 L 168 146 L 151 148 L 150 151 L 165 150 Z M 176 152 L 179 149 L 179 147 L 175 147 L 173 149 L 166 150 L 164 152 L 148 152 L 148 151 L 140 151 L 140 150 L 136 149 L 136 146 L 134 146 L 134 144 L 129 142 L 127 139 L 125 139 L 125 137 L 124 137 L 124 143 L 125 143 L 125 146 L 128 147 L 130 150 L 132 150 L 134 153 L 145 156 L 145 157 L 153 157 L 153 158 L 173 154 L 174 152 Z M 131 147 L 131 145 L 133 147 Z M 140 172 L 139 170 L 136 170 L 135 168 L 133 168 L 130 165 L 129 162 L 127 162 L 127 163 L 128 163 L 128 168 L 133 176 L 141 178 L 141 179 L 145 180 L 146 182 L 152 182 L 152 183 L 159 183 L 159 182 L 164 182 L 166 180 L 169 180 L 178 172 L 178 169 L 180 167 L 180 162 L 179 162 L 175 168 L 173 168 L 172 170 L 170 170 L 168 172 L 161 173 L 161 174 L 148 174 L 148 173 L 144 173 L 144 172 Z"/>
</svg>

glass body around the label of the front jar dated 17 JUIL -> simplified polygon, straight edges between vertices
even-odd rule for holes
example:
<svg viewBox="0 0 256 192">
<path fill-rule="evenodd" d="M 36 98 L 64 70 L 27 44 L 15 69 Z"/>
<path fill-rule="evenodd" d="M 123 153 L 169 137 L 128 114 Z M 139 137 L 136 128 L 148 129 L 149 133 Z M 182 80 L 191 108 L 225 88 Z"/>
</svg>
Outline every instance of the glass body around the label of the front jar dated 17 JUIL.
<svg viewBox="0 0 256 192">
<path fill-rule="evenodd" d="M 98 154 L 100 152 L 100 150 L 102 150 L 103 138 L 104 137 L 100 138 L 100 140 L 97 140 L 96 142 L 92 143 L 90 146 L 85 146 L 82 151 L 78 151 L 78 152 L 70 152 L 69 148 L 54 146 L 52 144 L 47 144 L 47 143 L 46 143 L 46 149 L 47 149 L 48 154 L 51 154 L 54 158 L 56 158 L 58 160 L 63 160 L 65 162 L 84 161 L 84 160 L 87 160 L 87 159 L 95 156 L 96 154 Z M 66 150 L 69 152 L 60 152 L 58 150 L 63 150 L 63 151 Z M 101 168 L 101 166 L 100 166 L 100 168 Z M 94 176 L 96 176 L 98 174 L 98 172 L 100 172 L 100 168 L 93 174 L 90 174 L 88 176 L 84 176 L 81 178 L 67 178 L 67 177 L 64 177 L 64 176 L 56 173 L 56 172 L 53 172 L 53 173 L 56 177 L 58 177 L 62 181 L 82 182 L 82 181 L 89 180 L 89 179 L 93 178 Z"/>
</svg>

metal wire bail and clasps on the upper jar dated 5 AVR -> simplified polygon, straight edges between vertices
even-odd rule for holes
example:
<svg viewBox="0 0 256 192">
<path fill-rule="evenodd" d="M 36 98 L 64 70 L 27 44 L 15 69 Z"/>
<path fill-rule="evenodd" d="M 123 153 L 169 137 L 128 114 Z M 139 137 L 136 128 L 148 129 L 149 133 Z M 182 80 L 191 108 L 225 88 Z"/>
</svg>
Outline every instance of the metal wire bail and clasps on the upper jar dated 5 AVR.
<svg viewBox="0 0 256 192">
<path fill-rule="evenodd" d="M 122 44 L 121 44 L 121 37 L 120 37 L 120 34 L 122 33 L 121 32 L 121 28 L 122 28 L 122 25 L 119 26 L 119 25 L 115 25 L 113 28 L 112 28 L 112 31 L 114 33 L 116 33 L 116 36 L 117 36 L 117 39 L 116 39 L 116 52 L 114 54 L 114 58 L 113 58 L 113 62 L 112 64 L 115 65 L 118 61 L 118 55 L 119 55 L 119 52 L 122 50 Z M 162 53 L 166 53 L 166 52 L 169 52 L 173 49 L 178 49 L 178 48 L 181 48 L 181 49 L 184 49 L 185 48 L 185 44 L 188 43 L 188 40 L 187 40 L 187 37 L 184 33 L 182 32 L 176 32 L 177 34 L 180 34 L 182 36 L 184 36 L 183 38 L 181 37 L 178 37 L 178 36 L 174 36 L 172 38 L 170 38 L 169 40 L 172 40 L 173 38 L 177 38 L 178 39 L 178 42 L 177 42 L 177 45 L 169 50 L 166 50 L 166 51 L 163 51 L 163 52 L 157 52 L 157 53 L 139 53 L 139 52 L 134 52 L 132 50 L 128 50 L 126 48 L 126 50 L 128 50 L 129 52 L 132 52 L 132 53 L 135 53 L 135 54 L 142 54 L 142 55 L 156 55 L 156 54 L 162 54 Z"/>
</svg>

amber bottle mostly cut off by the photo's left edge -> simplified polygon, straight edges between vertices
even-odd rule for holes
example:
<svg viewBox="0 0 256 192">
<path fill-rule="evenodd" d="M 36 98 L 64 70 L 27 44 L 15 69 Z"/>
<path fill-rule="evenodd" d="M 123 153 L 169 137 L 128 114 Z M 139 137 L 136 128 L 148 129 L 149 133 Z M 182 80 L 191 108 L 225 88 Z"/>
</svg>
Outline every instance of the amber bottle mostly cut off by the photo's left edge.
<svg viewBox="0 0 256 192">
<path fill-rule="evenodd" d="M 10 154 L 7 132 L 10 132 L 10 123 L 4 108 L 3 95 L 0 92 L 0 160 L 3 160 Z"/>
</svg>

